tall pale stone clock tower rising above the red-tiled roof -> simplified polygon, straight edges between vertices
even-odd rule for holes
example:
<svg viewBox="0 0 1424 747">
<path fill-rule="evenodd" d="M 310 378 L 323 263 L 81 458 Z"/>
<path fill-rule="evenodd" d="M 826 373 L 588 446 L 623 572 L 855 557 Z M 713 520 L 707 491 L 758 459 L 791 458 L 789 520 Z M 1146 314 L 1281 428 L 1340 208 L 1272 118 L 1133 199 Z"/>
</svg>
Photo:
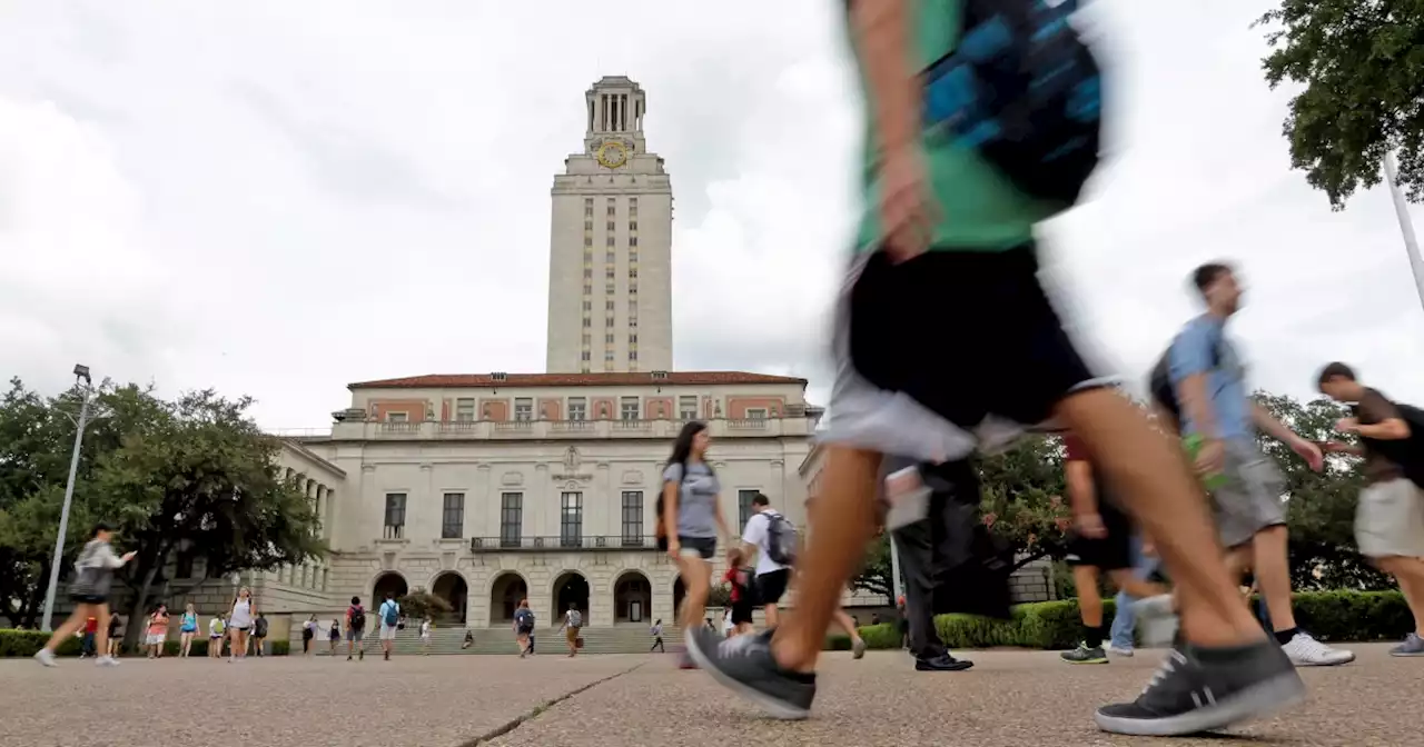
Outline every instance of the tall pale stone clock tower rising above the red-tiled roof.
<svg viewBox="0 0 1424 747">
<path fill-rule="evenodd" d="M 554 176 L 550 373 L 672 369 L 672 185 L 646 101 L 621 75 L 584 92 L 584 149 Z"/>
</svg>

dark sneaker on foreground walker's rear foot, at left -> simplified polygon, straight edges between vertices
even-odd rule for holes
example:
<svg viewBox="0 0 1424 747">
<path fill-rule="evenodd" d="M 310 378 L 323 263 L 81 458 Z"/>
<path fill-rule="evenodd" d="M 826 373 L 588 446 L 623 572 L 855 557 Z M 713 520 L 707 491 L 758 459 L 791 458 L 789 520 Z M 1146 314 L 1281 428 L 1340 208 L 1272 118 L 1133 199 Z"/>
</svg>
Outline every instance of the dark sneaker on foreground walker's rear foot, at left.
<svg viewBox="0 0 1424 747">
<path fill-rule="evenodd" d="M 810 716 L 816 699 L 816 674 L 782 669 L 772 656 L 772 630 L 736 646 L 718 646 L 711 630 L 689 629 L 688 653 L 723 687 L 766 709 L 776 719 Z"/>
</svg>

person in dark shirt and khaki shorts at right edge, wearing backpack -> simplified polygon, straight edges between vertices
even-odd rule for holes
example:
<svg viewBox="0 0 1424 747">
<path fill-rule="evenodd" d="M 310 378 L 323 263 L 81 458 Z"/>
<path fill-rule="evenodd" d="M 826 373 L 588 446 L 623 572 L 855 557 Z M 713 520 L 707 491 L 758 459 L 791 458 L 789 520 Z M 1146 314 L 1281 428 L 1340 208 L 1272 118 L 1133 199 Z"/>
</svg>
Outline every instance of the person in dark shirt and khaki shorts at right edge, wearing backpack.
<svg viewBox="0 0 1424 747">
<path fill-rule="evenodd" d="M 1327 451 L 1364 458 L 1354 541 L 1361 555 L 1394 576 L 1414 615 L 1415 632 L 1390 656 L 1424 656 L 1424 413 L 1360 384 L 1344 363 L 1326 366 L 1319 386 L 1331 400 L 1351 404 L 1353 417 L 1336 423 L 1336 430 L 1360 438 L 1358 447 L 1324 444 Z"/>
</svg>

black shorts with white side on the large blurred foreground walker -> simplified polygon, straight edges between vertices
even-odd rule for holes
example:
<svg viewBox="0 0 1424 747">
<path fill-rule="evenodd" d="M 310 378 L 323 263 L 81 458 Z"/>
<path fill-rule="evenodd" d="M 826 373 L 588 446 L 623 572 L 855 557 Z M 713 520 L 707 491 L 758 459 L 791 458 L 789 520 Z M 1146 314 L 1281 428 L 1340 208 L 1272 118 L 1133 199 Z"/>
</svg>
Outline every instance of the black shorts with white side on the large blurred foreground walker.
<svg viewBox="0 0 1424 747">
<path fill-rule="evenodd" d="M 1032 243 L 931 250 L 901 265 L 881 252 L 859 259 L 840 302 L 829 407 L 849 417 L 832 418 L 827 441 L 928 458 L 914 450 L 963 441 L 947 431 L 971 433 L 988 415 L 1038 425 L 1069 393 L 1106 381 L 1064 332 Z M 887 393 L 943 420 L 906 413 Z"/>
</svg>

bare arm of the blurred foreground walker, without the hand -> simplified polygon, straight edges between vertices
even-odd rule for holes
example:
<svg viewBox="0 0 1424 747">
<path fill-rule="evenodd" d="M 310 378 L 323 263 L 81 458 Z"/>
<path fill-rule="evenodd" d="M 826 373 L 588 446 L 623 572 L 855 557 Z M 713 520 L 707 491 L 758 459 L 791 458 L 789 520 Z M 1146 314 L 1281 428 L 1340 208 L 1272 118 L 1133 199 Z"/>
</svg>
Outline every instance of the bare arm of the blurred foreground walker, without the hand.
<svg viewBox="0 0 1424 747">
<path fill-rule="evenodd" d="M 869 102 L 883 152 L 916 142 L 920 131 L 918 78 L 910 70 L 907 0 L 852 0 L 852 31 L 870 84 Z"/>
</svg>

